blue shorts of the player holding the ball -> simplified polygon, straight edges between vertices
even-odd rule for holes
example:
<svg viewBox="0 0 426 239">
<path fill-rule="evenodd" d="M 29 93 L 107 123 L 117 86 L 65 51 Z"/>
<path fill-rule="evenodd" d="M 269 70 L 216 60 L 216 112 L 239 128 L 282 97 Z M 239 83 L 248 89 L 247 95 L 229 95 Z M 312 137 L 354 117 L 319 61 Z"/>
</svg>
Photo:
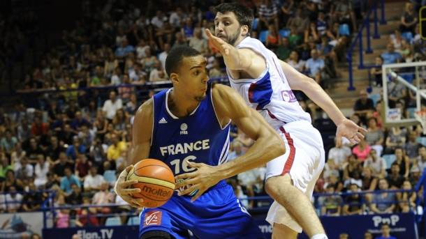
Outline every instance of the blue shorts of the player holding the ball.
<svg viewBox="0 0 426 239">
<path fill-rule="evenodd" d="M 145 208 L 140 215 L 139 237 L 152 230 L 166 231 L 176 239 L 264 238 L 247 210 L 224 181 L 214 185 L 196 201 L 177 196 L 159 208 Z"/>
</svg>

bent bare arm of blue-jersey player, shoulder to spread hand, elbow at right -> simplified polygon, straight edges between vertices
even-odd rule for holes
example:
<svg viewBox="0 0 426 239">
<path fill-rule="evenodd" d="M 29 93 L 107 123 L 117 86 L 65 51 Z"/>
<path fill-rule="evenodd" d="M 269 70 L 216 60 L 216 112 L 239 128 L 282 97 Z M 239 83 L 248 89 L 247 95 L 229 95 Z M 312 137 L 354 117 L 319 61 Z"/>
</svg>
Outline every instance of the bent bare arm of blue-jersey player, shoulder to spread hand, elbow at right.
<svg viewBox="0 0 426 239">
<path fill-rule="evenodd" d="M 216 114 L 220 121 L 228 122 L 229 119 L 234 121 L 244 134 L 255 140 L 255 143 L 246 154 L 216 167 L 189 162 L 191 167 L 196 167 L 198 170 L 177 176 L 177 179 L 186 178 L 186 180 L 177 183 L 176 187 L 190 185 L 181 194 L 189 194 L 193 190 L 199 190 L 192 200 L 198 199 L 203 192 L 218 183 L 219 180 L 260 167 L 285 153 L 284 141 L 281 137 L 257 111 L 245 104 L 236 91 L 228 86 L 216 84 L 212 88 L 212 96 Z"/>
</svg>

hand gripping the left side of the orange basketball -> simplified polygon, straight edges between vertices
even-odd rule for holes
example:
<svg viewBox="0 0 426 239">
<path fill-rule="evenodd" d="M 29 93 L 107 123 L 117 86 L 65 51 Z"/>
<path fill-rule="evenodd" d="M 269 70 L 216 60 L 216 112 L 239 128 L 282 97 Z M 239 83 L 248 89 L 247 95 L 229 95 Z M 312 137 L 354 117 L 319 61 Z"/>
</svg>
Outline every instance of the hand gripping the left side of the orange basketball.
<svg viewBox="0 0 426 239">
<path fill-rule="evenodd" d="M 135 199 L 132 195 L 140 192 L 139 188 L 131 188 L 131 185 L 138 183 L 137 180 L 126 180 L 127 174 L 133 165 L 126 167 L 120 174 L 117 182 L 114 185 L 114 191 L 117 195 L 121 196 L 126 203 L 128 203 L 133 208 L 142 208 L 143 199 Z"/>
</svg>

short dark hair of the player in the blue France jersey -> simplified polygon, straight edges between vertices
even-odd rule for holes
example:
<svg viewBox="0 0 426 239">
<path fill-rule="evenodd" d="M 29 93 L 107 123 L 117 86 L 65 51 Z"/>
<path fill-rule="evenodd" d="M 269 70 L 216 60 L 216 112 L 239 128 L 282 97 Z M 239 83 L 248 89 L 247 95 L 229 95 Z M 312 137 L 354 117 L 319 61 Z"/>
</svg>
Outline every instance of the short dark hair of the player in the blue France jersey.
<svg viewBox="0 0 426 239">
<path fill-rule="evenodd" d="M 173 47 L 170 52 L 168 52 L 166 58 L 165 68 L 167 75 L 170 77 L 170 74 L 172 74 L 172 72 L 176 72 L 179 69 L 179 65 L 182 59 L 184 59 L 184 57 L 198 55 L 200 55 L 200 52 L 198 52 L 196 49 L 193 49 L 192 47 Z"/>
</svg>

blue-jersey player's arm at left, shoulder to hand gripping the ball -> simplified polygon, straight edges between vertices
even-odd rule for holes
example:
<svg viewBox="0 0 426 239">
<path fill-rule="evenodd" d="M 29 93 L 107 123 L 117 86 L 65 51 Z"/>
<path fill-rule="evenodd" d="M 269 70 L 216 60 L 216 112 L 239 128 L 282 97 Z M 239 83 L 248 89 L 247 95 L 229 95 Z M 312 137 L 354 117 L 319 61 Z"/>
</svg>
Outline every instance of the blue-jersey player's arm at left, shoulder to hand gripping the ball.
<svg viewBox="0 0 426 239">
<path fill-rule="evenodd" d="M 136 111 L 133 121 L 133 141 L 128 154 L 128 166 L 120 174 L 115 183 L 115 193 L 122 197 L 130 206 L 141 208 L 143 199 L 133 198 L 133 194 L 140 192 L 139 188 L 129 188 L 131 185 L 138 183 L 137 180 L 126 180 L 127 174 L 131 171 L 133 164 L 145 159 L 149 156 L 149 147 L 151 146 L 151 133 L 153 121 L 153 102 L 152 99 L 147 100 Z"/>
</svg>

